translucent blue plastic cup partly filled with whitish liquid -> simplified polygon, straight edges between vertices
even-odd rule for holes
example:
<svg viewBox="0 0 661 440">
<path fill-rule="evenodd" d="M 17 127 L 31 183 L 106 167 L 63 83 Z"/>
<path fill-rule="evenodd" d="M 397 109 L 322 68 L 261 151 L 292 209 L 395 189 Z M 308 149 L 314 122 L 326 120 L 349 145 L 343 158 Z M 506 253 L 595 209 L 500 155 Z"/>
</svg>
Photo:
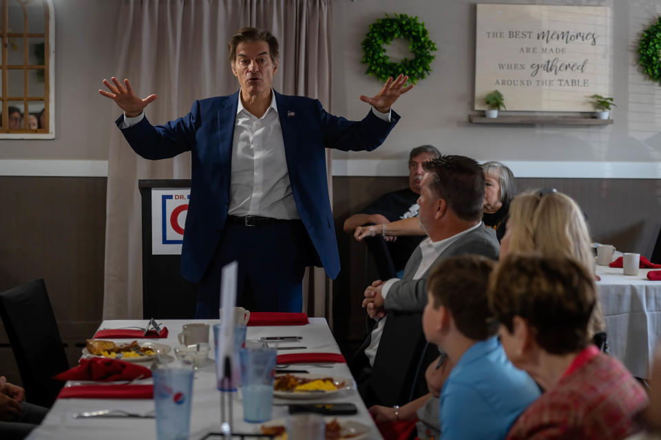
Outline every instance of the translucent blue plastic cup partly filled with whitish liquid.
<svg viewBox="0 0 661 440">
<path fill-rule="evenodd" d="M 271 420 L 275 348 L 242 348 L 241 392 L 243 419 L 249 423 Z"/>
</svg>

